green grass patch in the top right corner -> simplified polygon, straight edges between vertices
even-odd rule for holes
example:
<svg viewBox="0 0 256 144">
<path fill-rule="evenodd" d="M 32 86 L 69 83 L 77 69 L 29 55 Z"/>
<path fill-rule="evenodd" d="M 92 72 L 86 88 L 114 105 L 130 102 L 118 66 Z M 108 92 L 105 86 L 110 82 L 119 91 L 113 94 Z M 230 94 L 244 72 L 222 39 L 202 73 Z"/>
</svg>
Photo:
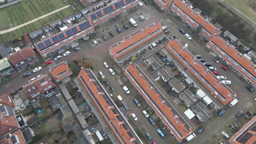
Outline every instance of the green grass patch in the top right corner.
<svg viewBox="0 0 256 144">
<path fill-rule="evenodd" d="M 241 13 L 245 14 L 249 19 L 256 22 L 256 11 L 253 11 L 249 5 L 248 1 L 255 1 L 255 0 L 224 0 L 225 2 L 231 4 L 233 7 L 235 7 L 237 10 L 239 10 Z"/>
</svg>

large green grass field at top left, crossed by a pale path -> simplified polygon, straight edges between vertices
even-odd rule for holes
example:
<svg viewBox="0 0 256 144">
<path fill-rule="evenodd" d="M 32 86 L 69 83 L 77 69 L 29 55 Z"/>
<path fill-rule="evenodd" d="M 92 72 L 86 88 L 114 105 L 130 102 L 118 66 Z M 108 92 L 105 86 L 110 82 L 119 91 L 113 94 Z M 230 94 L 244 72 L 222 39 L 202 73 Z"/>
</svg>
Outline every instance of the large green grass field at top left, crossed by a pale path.
<svg viewBox="0 0 256 144">
<path fill-rule="evenodd" d="M 0 43 L 13 40 L 22 36 L 23 34 L 30 33 L 36 29 L 46 26 L 48 23 L 57 19 L 62 19 L 68 15 L 74 14 L 78 10 L 82 9 L 82 5 L 75 0 L 23 0 L 20 3 L 10 5 L 7 8 L 0 9 L 0 31 L 9 29 L 9 25 L 13 27 L 21 25 L 22 23 L 36 19 L 39 16 L 45 15 L 56 9 L 62 8 L 68 4 L 74 5 L 75 8 L 71 7 L 63 9 L 53 15 L 44 17 L 36 22 L 30 23 L 15 31 L 0 35 Z"/>
</svg>

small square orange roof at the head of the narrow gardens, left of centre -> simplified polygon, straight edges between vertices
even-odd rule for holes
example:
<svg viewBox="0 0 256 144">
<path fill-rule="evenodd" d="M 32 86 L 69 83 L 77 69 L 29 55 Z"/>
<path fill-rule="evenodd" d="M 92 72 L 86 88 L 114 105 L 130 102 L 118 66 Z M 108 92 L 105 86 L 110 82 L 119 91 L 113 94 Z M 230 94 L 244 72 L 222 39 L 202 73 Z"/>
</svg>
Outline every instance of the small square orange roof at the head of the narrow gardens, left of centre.
<svg viewBox="0 0 256 144">
<path fill-rule="evenodd" d="M 50 68 L 51 75 L 53 75 L 56 82 L 72 74 L 67 62 L 62 62 Z"/>
</svg>

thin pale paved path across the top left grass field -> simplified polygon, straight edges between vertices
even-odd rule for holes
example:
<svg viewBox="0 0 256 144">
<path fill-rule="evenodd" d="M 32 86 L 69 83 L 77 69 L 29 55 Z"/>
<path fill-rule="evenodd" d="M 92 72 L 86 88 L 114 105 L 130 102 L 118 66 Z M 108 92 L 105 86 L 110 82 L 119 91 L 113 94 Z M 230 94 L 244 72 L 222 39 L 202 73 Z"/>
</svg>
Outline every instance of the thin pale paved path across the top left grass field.
<svg viewBox="0 0 256 144">
<path fill-rule="evenodd" d="M 19 25 L 19 26 L 16 26 L 16 27 L 13 27 L 13 28 L 9 28 L 9 29 L 6 29 L 6 30 L 4 30 L 4 31 L 0 31 L 0 34 L 8 33 L 8 32 L 14 31 L 15 29 L 21 28 L 21 27 L 23 27 L 23 26 L 26 26 L 26 25 L 32 23 L 32 22 L 35 22 L 35 21 L 40 20 L 40 19 L 43 19 L 43 18 L 46 17 L 46 16 L 52 15 L 52 14 L 54 14 L 54 13 L 57 13 L 58 11 L 61 11 L 61 10 L 66 9 L 66 8 L 68 8 L 68 7 L 70 7 L 70 5 L 66 5 L 65 7 L 62 7 L 62 8 L 60 8 L 60 9 L 51 11 L 51 13 L 48 13 L 48 14 L 42 15 L 42 16 L 40 16 L 40 17 L 37 17 L 37 19 L 28 21 L 28 22 L 23 23 L 23 24 L 21 24 L 21 25 Z"/>
</svg>

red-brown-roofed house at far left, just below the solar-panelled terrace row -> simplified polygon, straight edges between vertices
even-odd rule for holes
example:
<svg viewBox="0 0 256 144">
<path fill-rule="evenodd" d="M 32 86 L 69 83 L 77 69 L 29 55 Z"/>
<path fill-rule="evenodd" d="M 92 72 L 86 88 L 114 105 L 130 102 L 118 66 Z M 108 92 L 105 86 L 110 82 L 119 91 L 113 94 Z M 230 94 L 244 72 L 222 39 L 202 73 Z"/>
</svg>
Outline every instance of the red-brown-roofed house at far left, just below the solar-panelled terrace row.
<svg viewBox="0 0 256 144">
<path fill-rule="evenodd" d="M 38 59 L 36 52 L 34 52 L 32 47 L 26 47 L 25 49 L 10 55 L 9 61 L 13 64 L 15 69 L 23 69 L 38 61 Z"/>
</svg>

